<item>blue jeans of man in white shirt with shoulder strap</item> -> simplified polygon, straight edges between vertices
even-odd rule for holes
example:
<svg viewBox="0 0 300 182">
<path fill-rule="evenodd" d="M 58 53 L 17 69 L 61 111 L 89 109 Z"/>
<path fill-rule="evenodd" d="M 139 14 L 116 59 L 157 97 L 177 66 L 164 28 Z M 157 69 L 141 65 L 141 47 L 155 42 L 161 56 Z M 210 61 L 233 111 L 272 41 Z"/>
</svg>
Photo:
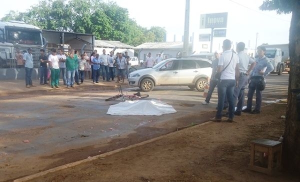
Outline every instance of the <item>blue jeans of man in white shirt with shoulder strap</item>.
<svg viewBox="0 0 300 182">
<path fill-rule="evenodd" d="M 222 117 L 222 110 L 224 107 L 224 100 L 227 97 L 229 108 L 228 117 L 233 119 L 234 116 L 234 97 L 233 90 L 235 86 L 235 79 L 221 79 L 217 84 L 217 111 L 215 114 L 216 118 Z"/>
</svg>

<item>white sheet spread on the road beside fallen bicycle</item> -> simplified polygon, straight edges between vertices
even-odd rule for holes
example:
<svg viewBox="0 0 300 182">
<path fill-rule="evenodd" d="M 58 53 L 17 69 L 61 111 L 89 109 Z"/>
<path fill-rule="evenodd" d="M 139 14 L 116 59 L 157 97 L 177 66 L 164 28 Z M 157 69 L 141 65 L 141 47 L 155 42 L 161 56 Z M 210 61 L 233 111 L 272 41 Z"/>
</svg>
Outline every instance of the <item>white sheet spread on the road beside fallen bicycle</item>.
<svg viewBox="0 0 300 182">
<path fill-rule="evenodd" d="M 110 115 L 162 115 L 174 113 L 176 110 L 160 100 L 133 100 L 110 105 L 107 114 Z"/>
</svg>

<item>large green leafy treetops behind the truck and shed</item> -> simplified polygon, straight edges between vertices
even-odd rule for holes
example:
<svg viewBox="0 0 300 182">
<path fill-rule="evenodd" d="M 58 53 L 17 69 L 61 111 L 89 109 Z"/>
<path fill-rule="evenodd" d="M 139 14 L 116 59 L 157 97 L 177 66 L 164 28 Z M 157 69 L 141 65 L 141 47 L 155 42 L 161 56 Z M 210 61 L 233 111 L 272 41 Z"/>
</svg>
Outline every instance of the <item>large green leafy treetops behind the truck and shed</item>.
<svg viewBox="0 0 300 182">
<path fill-rule="evenodd" d="M 2 21 L 22 20 L 42 29 L 91 33 L 95 39 L 119 40 L 136 46 L 164 41 L 165 30 L 139 26 L 126 8 L 100 0 L 40 0 L 26 12 L 10 11 Z"/>
</svg>

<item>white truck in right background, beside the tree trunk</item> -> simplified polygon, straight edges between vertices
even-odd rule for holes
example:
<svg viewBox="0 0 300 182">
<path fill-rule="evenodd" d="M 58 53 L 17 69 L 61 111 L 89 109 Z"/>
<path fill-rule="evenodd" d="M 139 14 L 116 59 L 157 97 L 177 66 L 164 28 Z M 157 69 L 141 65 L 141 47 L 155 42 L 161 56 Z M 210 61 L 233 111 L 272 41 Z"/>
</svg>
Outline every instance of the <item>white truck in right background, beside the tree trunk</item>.
<svg viewBox="0 0 300 182">
<path fill-rule="evenodd" d="M 266 49 L 265 56 L 267 56 L 274 66 L 271 73 L 281 75 L 286 69 L 285 62 L 288 60 L 288 44 L 273 44 L 263 45 Z"/>
</svg>

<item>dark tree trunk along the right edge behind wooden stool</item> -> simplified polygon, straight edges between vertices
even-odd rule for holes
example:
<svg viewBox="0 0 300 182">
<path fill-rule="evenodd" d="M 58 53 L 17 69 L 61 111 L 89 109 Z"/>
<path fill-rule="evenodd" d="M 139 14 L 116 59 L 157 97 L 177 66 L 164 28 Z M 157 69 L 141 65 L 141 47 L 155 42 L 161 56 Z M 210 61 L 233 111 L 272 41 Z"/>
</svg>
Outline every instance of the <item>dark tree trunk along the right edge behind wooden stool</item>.
<svg viewBox="0 0 300 182">
<path fill-rule="evenodd" d="M 289 29 L 290 71 L 283 138 L 283 169 L 300 172 L 300 5 L 294 4 Z M 297 100 L 298 99 L 298 100 Z"/>
</svg>

